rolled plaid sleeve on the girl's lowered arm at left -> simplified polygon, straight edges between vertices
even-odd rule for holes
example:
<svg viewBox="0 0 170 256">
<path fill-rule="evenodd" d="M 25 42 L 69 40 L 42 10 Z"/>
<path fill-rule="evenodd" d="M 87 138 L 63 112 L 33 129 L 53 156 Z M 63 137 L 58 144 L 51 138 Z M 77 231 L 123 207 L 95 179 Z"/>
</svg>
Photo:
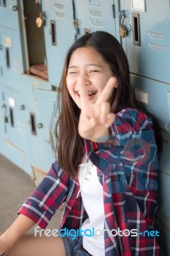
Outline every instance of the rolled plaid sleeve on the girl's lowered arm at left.
<svg viewBox="0 0 170 256">
<path fill-rule="evenodd" d="M 18 213 L 24 214 L 35 221 L 41 228 L 47 227 L 56 209 L 66 198 L 69 180 L 66 173 L 55 162 L 38 188 L 24 202 Z"/>
</svg>

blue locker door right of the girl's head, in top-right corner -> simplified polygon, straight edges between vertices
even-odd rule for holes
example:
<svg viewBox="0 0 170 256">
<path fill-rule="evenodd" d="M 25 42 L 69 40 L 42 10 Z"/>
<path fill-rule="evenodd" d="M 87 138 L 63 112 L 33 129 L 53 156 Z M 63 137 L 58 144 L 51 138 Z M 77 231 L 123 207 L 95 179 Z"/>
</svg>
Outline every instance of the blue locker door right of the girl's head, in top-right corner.
<svg viewBox="0 0 170 256">
<path fill-rule="evenodd" d="M 145 6 L 144 10 L 141 3 Z M 127 37 L 122 38 L 130 62 L 130 71 L 170 83 L 169 0 L 121 0 L 121 10 L 125 10 L 125 25 L 131 29 Z"/>
</svg>

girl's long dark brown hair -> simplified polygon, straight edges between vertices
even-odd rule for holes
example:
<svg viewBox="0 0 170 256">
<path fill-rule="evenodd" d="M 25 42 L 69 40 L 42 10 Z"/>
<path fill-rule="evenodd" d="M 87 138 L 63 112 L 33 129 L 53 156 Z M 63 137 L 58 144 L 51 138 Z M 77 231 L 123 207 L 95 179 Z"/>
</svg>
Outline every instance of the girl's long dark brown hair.
<svg viewBox="0 0 170 256">
<path fill-rule="evenodd" d="M 59 111 L 59 117 L 55 125 L 56 152 L 58 154 L 59 166 L 65 170 L 70 177 L 75 178 L 84 154 L 84 140 L 79 136 L 77 130 L 80 109 L 77 107 L 72 97 L 68 93 L 66 86 L 67 68 L 73 52 L 81 47 L 91 47 L 99 52 L 104 60 L 110 65 L 112 73 L 118 80 L 116 93 L 112 93 L 111 111 L 120 112 L 124 108 L 139 109 L 146 111 L 139 106 L 135 100 L 134 93 L 130 84 L 130 71 L 127 56 L 120 43 L 114 36 L 104 31 L 96 31 L 81 36 L 68 49 L 66 54 L 61 82 L 59 84 L 57 106 L 54 110 Z M 146 113 L 148 115 L 148 113 Z"/>
</svg>

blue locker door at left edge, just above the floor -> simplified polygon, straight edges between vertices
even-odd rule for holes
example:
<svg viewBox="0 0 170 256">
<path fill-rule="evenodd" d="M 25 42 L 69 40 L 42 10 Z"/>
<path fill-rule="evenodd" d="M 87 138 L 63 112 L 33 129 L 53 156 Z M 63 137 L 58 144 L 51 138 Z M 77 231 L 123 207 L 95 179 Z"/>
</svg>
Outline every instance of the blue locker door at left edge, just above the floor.
<svg viewBox="0 0 170 256">
<path fill-rule="evenodd" d="M 1 83 L 0 150 L 1 154 L 27 173 L 31 168 L 27 159 L 27 113 L 24 95 Z"/>
</svg>

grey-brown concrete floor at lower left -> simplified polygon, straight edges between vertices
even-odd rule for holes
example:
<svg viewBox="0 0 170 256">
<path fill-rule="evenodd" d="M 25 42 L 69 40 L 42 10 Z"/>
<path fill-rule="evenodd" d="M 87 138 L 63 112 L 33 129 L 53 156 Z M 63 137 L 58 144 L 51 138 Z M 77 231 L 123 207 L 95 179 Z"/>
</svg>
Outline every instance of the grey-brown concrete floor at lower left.
<svg viewBox="0 0 170 256">
<path fill-rule="evenodd" d="M 13 223 L 18 209 L 35 189 L 31 177 L 0 154 L 0 232 Z M 61 213 L 58 210 L 54 214 L 47 228 L 59 227 Z M 29 232 L 34 232 L 34 227 Z"/>
</svg>

